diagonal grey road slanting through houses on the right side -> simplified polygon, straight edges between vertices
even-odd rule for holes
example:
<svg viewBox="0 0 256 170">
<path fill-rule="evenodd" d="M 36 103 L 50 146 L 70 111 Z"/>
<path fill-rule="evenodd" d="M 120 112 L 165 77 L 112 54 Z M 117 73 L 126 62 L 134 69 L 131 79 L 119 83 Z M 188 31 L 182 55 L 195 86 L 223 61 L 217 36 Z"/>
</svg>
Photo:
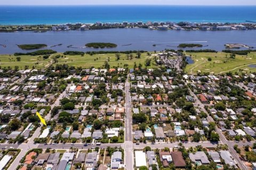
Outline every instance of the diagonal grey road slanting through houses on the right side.
<svg viewBox="0 0 256 170">
<path fill-rule="evenodd" d="M 187 85 L 187 83 L 186 83 Z M 194 94 L 194 92 L 188 87 L 189 89 L 189 93 L 191 96 L 194 97 L 194 99 L 196 100 L 195 103 L 202 109 L 202 111 L 204 113 L 207 114 L 207 121 L 209 122 L 214 122 L 212 116 L 210 116 L 208 114 L 208 112 L 206 111 L 206 109 L 204 108 L 204 105 L 201 103 L 201 101 L 198 99 L 198 97 Z M 238 166 L 241 168 L 241 169 L 247 169 L 247 167 L 244 165 L 244 163 L 242 162 L 242 160 L 239 158 L 239 156 L 237 155 L 235 149 L 233 148 L 234 145 L 231 145 L 231 142 L 229 142 L 225 135 L 221 132 L 221 130 L 218 128 L 218 126 L 216 127 L 216 132 L 219 134 L 220 136 L 220 141 L 223 143 L 223 144 L 226 144 L 228 146 L 228 149 L 231 153 L 231 155 L 233 156 L 233 158 L 235 159 L 236 163 L 238 164 Z"/>
</svg>

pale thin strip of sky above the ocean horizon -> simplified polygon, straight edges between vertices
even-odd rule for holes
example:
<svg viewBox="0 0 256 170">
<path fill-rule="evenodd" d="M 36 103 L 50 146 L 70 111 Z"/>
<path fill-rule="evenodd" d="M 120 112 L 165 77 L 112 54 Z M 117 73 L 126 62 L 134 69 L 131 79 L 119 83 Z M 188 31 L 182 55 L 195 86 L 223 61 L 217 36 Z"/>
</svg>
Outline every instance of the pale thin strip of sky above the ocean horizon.
<svg viewBox="0 0 256 170">
<path fill-rule="evenodd" d="M 0 5 L 256 5 L 255 0 L 0 0 Z"/>
</svg>

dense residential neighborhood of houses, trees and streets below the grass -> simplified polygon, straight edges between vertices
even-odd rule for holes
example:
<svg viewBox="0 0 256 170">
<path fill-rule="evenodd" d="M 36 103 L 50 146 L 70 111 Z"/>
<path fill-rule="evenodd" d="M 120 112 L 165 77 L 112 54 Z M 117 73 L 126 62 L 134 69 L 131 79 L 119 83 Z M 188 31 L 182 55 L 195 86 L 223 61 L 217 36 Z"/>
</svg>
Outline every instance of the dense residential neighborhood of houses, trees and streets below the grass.
<svg viewBox="0 0 256 170">
<path fill-rule="evenodd" d="M 256 74 L 186 74 L 186 57 L 1 67 L 0 170 L 256 169 Z"/>
</svg>

